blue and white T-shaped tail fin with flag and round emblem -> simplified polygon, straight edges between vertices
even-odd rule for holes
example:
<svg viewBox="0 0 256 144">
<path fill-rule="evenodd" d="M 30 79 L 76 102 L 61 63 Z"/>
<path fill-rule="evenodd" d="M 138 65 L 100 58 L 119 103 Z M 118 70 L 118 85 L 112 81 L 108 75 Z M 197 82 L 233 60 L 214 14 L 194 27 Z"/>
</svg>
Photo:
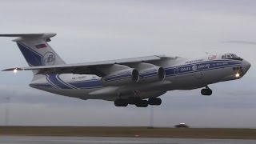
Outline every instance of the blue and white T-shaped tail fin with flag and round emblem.
<svg viewBox="0 0 256 144">
<path fill-rule="evenodd" d="M 14 39 L 22 51 L 29 66 L 50 66 L 65 64 L 65 62 L 49 46 L 54 33 L 45 34 L 0 34 L 0 37 L 18 37 Z"/>
</svg>

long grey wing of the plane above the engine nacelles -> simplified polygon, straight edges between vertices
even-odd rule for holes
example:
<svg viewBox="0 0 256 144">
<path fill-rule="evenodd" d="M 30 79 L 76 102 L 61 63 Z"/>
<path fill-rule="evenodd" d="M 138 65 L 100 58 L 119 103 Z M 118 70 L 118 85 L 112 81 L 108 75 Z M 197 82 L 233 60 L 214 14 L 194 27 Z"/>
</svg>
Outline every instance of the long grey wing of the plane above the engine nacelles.
<svg viewBox="0 0 256 144">
<path fill-rule="evenodd" d="M 160 61 L 163 58 L 172 58 L 166 57 L 165 55 L 154 55 L 147 57 L 138 57 L 138 58 L 125 58 L 118 60 L 102 61 L 102 62 L 85 62 L 78 64 L 64 64 L 64 65 L 54 65 L 54 66 L 30 66 L 30 67 L 14 67 L 2 71 L 9 70 L 38 70 L 38 74 L 95 74 L 99 77 L 106 75 L 105 71 L 102 69 L 107 69 L 108 66 L 114 64 L 126 65 L 134 64 L 139 62 L 155 62 Z"/>
</svg>

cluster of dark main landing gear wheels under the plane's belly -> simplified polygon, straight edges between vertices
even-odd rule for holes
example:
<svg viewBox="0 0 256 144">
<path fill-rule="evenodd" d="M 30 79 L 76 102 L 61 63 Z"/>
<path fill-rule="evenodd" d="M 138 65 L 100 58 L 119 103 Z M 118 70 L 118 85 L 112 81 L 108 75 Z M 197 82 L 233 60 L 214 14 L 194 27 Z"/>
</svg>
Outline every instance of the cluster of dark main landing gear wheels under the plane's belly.
<svg viewBox="0 0 256 144">
<path fill-rule="evenodd" d="M 135 105 L 137 107 L 147 107 L 149 105 L 159 106 L 162 100 L 160 98 L 149 98 L 148 100 L 143 100 L 138 97 L 130 97 L 128 99 L 117 99 L 114 101 L 114 106 L 128 106 Z"/>
</svg>

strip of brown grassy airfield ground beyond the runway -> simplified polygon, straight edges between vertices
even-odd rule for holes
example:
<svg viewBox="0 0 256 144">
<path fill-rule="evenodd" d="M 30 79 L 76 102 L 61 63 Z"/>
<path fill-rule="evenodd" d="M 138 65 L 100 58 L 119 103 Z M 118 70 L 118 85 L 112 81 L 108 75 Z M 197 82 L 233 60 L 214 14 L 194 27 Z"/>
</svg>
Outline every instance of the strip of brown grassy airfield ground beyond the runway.
<svg viewBox="0 0 256 144">
<path fill-rule="evenodd" d="M 256 129 L 101 126 L 0 126 L 0 135 L 256 139 Z"/>
</svg>

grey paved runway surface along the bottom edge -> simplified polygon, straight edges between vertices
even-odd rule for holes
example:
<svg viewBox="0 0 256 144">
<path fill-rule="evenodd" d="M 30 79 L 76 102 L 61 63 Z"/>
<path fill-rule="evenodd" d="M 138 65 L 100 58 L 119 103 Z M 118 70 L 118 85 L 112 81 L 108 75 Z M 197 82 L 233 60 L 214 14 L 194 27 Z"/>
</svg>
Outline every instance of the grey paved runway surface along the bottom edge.
<svg viewBox="0 0 256 144">
<path fill-rule="evenodd" d="M 170 144 L 255 144 L 256 140 L 234 139 L 196 139 L 196 138 L 110 138 L 110 137 L 28 137 L 0 136 L 1 144 L 133 144 L 133 143 L 170 143 Z"/>
</svg>

